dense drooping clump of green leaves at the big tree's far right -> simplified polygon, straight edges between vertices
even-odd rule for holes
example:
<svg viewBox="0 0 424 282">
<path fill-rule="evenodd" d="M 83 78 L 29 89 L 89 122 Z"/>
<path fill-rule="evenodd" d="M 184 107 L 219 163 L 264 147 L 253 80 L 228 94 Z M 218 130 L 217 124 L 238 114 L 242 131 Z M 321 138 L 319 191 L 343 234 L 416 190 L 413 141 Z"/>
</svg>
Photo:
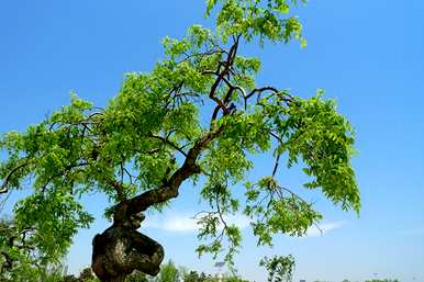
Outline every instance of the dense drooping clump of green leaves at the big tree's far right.
<svg viewBox="0 0 424 282">
<path fill-rule="evenodd" d="M 288 133 L 282 148 L 289 154 L 289 166 L 301 157 L 303 170 L 314 180 L 306 188 L 321 187 L 344 210 L 359 211 L 359 192 L 349 163 L 354 153 L 353 129 L 336 112 L 335 102 L 316 95 L 298 100 L 288 109 L 280 133 Z"/>
</svg>

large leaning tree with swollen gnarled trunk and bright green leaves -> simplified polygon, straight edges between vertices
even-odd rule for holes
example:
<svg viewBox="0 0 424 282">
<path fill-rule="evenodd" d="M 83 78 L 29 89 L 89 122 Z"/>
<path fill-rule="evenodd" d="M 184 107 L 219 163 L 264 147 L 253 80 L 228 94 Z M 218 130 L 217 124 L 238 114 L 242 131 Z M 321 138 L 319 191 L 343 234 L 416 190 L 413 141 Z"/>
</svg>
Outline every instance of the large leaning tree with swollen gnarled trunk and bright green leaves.
<svg viewBox="0 0 424 282">
<path fill-rule="evenodd" d="M 353 129 L 324 100 L 323 91 L 302 99 L 288 90 L 257 86 L 260 60 L 239 55 L 256 40 L 305 45 L 302 25 L 290 15 L 295 0 L 209 0 L 216 29 L 189 29 L 182 40 L 164 40 L 166 58 L 149 74 L 129 74 L 104 109 L 71 94 L 63 106 L 30 126 L 7 133 L 0 143 L 0 193 L 32 180 L 33 194 L 15 205 L 16 227 L 33 228 L 37 252 L 58 261 L 78 228 L 93 221 L 81 194 L 105 193 L 113 224 L 93 240 L 92 268 L 101 281 L 124 281 L 134 270 L 155 275 L 164 258 L 160 244 L 138 233 L 142 214 L 178 198 L 183 181 L 201 183 L 210 211 L 198 216 L 197 251 L 226 250 L 231 264 L 241 230 L 225 215 L 252 219 L 259 245 L 277 233 L 301 236 L 322 215 L 277 181 L 280 162 L 302 165 L 311 181 L 343 210 L 359 211 L 350 157 Z M 205 116 L 210 116 L 205 120 Z M 255 181 L 246 173 L 252 156 L 271 153 L 274 168 Z M 269 156 L 269 155 L 267 155 Z M 245 199 L 232 193 L 245 185 Z M 221 228 L 223 226 L 223 228 Z M 125 246 L 120 248 L 119 246 Z M 125 251 L 123 251 L 125 249 Z"/>
</svg>

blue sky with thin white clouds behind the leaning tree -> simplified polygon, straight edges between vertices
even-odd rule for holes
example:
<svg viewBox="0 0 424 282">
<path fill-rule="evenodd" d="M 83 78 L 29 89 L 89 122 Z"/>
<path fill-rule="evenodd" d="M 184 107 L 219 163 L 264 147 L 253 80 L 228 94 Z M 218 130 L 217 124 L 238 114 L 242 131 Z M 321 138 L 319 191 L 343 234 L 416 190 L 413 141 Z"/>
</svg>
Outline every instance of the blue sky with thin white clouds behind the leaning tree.
<svg viewBox="0 0 424 282">
<path fill-rule="evenodd" d="M 129 71 L 148 71 L 160 58 L 160 38 L 180 37 L 192 23 L 205 23 L 203 1 L 92 0 L 0 1 L 0 133 L 24 129 L 68 103 L 69 91 L 107 104 Z M 353 160 L 361 190 L 360 216 L 344 213 L 314 193 L 325 215 L 317 235 L 276 238 L 257 248 L 248 227 L 237 267 L 242 275 L 266 281 L 257 266 L 264 255 L 293 253 L 295 279 L 362 281 L 375 277 L 424 281 L 424 3 L 392 0 L 310 1 L 299 9 L 308 47 L 298 44 L 245 46 L 259 56 L 259 81 L 313 95 L 317 88 L 338 102 L 356 129 Z M 257 159 L 253 173 L 267 166 Z M 299 189 L 304 179 L 284 171 L 280 179 Z M 163 215 L 143 229 L 161 241 L 177 264 L 213 271 L 198 260 L 189 217 L 198 210 L 190 183 Z M 193 195 L 194 194 L 194 195 Z M 11 201 L 19 198 L 12 195 Z M 98 216 L 81 230 L 68 256 L 69 270 L 90 262 L 102 195 L 83 199 Z M 244 218 L 233 218 L 242 227 Z"/>
</svg>

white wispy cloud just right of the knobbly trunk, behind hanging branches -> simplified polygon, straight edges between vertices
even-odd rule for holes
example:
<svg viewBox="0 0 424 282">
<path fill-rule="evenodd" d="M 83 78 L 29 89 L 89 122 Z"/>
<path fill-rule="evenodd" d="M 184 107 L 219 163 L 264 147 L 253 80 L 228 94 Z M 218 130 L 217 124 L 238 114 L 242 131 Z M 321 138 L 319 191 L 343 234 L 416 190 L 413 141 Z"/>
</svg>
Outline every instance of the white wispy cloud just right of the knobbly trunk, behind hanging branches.
<svg viewBox="0 0 424 282">
<path fill-rule="evenodd" d="M 249 225 L 248 218 L 242 214 L 225 216 L 224 219 L 227 224 L 234 224 L 242 229 Z M 193 233 L 199 229 L 197 219 L 188 213 L 167 213 L 160 217 L 148 218 L 143 225 L 175 233 Z"/>
</svg>

